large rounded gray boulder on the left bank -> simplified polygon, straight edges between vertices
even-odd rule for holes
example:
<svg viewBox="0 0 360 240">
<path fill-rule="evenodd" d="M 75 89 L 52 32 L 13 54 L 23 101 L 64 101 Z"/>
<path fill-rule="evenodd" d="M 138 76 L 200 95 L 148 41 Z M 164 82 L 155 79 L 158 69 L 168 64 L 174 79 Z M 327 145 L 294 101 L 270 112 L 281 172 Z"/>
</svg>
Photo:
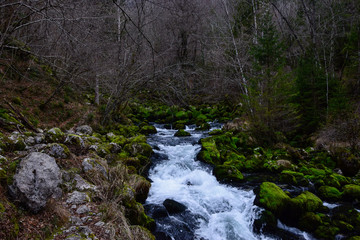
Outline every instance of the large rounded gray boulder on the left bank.
<svg viewBox="0 0 360 240">
<path fill-rule="evenodd" d="M 51 196 L 59 195 L 61 181 L 55 159 L 45 153 L 33 152 L 21 160 L 9 191 L 15 200 L 36 213 Z"/>
</svg>

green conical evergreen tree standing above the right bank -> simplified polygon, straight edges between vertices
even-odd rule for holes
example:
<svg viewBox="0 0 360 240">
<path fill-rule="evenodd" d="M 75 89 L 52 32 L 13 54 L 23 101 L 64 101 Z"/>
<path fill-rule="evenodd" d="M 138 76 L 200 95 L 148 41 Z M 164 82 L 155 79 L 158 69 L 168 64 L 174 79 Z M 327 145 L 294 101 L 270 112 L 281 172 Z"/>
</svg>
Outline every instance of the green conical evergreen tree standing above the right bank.
<svg viewBox="0 0 360 240">
<path fill-rule="evenodd" d="M 251 49 L 255 72 L 251 84 L 252 122 L 259 139 L 271 144 L 283 141 L 279 136 L 295 130 L 297 114 L 290 101 L 293 78 L 284 70 L 284 44 L 270 14 L 260 20 L 257 44 Z"/>
</svg>

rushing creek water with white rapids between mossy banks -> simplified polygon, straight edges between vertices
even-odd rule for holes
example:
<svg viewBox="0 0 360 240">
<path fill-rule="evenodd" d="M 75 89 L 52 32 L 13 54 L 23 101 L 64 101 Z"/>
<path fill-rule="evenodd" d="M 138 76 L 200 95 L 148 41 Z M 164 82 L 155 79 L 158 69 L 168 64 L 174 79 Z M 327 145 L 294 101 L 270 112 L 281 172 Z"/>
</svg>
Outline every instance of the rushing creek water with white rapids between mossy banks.
<svg viewBox="0 0 360 240">
<path fill-rule="evenodd" d="M 211 166 L 196 160 L 201 149 L 198 142 L 208 132 L 187 127 L 191 136 L 180 138 L 174 137 L 176 130 L 155 127 L 158 133 L 148 138 L 155 154 L 148 175 L 152 186 L 144 206 L 156 221 L 157 240 L 311 239 L 287 228 L 282 228 L 290 233 L 285 238 L 254 233 L 253 223 L 262 209 L 253 204 L 253 190 L 219 183 Z M 212 129 L 220 127 L 212 124 Z M 163 205 L 166 199 L 181 203 L 186 210 L 169 214 Z"/>
</svg>

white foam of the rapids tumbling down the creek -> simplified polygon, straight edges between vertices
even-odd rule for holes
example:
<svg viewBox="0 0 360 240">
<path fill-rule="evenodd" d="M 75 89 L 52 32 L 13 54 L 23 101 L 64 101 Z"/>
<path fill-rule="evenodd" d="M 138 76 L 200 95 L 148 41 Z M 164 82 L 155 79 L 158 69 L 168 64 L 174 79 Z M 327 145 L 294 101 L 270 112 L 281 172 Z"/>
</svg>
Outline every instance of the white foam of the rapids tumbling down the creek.
<svg viewBox="0 0 360 240">
<path fill-rule="evenodd" d="M 203 137 L 201 133 L 194 134 L 193 129 L 187 130 L 191 131 L 195 141 Z M 175 132 L 158 128 L 156 137 L 170 139 Z M 253 205 L 253 191 L 220 184 L 209 168 L 195 161 L 200 150 L 198 144 L 181 143 L 171 146 L 161 141 L 157 146 L 160 149 L 157 152 L 166 154 L 168 159 L 158 162 L 149 171 L 152 185 L 147 204 L 161 205 L 164 200 L 173 199 L 184 204 L 192 213 L 200 215 L 198 228 L 194 229 L 197 239 L 271 239 L 252 232 L 253 222 L 260 212 Z M 294 229 L 287 230 L 306 235 Z"/>
</svg>

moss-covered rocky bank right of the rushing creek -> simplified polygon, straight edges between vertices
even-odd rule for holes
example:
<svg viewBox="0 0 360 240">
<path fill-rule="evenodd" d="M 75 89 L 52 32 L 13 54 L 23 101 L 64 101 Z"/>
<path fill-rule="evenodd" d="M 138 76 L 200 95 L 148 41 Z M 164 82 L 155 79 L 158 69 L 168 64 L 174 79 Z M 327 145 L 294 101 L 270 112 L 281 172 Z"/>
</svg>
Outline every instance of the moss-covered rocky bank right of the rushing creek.
<svg viewBox="0 0 360 240">
<path fill-rule="evenodd" d="M 255 187 L 265 211 L 255 231 L 275 234 L 278 220 L 317 239 L 360 239 L 358 159 L 346 148 L 261 147 L 244 121 L 201 140 L 197 158 L 225 183 Z"/>
</svg>

